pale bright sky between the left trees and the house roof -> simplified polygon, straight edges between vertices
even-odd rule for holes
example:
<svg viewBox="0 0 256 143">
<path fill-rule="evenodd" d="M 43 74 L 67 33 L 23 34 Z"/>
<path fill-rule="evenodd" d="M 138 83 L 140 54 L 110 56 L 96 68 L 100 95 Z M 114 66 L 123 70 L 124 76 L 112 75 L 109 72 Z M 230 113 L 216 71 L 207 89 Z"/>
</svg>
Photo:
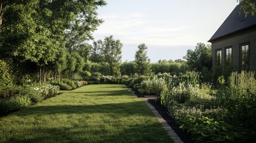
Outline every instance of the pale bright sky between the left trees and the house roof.
<svg viewBox="0 0 256 143">
<path fill-rule="evenodd" d="M 95 41 L 113 35 L 122 47 L 122 61 L 133 61 L 138 45 L 158 60 L 183 59 L 187 49 L 206 43 L 239 3 L 237 0 L 106 0 L 98 18 L 104 23 Z M 209 43 L 210 44 L 210 43 Z"/>
</svg>

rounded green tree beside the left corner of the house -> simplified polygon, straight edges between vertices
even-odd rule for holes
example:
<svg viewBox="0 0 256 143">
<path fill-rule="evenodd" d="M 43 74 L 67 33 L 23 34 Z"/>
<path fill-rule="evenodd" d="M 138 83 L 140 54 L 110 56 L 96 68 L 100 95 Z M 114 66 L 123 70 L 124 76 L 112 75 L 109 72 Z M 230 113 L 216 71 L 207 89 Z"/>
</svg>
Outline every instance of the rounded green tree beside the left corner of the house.
<svg viewBox="0 0 256 143">
<path fill-rule="evenodd" d="M 212 67 L 211 45 L 198 43 L 195 50 L 188 49 L 187 54 L 183 58 L 191 69 L 202 71 L 203 67 L 207 67 L 209 70 Z"/>
</svg>

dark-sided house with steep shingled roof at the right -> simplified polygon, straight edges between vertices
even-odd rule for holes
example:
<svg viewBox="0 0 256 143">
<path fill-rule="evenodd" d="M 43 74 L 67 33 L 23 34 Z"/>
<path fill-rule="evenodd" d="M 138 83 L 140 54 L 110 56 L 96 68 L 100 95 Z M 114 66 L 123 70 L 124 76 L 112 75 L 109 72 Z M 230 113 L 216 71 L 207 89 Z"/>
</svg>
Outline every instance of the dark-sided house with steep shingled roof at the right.
<svg viewBox="0 0 256 143">
<path fill-rule="evenodd" d="M 209 39 L 213 67 L 232 66 L 237 71 L 256 71 L 256 15 L 245 17 L 240 5 Z"/>
</svg>

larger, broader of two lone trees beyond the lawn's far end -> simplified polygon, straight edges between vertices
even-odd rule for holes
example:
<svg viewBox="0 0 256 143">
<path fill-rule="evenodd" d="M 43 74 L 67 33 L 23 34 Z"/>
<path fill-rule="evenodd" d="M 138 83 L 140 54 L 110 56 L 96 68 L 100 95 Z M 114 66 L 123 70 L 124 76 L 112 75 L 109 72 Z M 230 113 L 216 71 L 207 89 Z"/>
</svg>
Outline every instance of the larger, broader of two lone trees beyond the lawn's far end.
<svg viewBox="0 0 256 143">
<path fill-rule="evenodd" d="M 123 44 L 119 40 L 113 39 L 112 35 L 104 39 L 102 51 L 104 60 L 109 63 L 112 76 L 121 74 L 119 64 L 122 58 L 122 46 Z"/>
</svg>

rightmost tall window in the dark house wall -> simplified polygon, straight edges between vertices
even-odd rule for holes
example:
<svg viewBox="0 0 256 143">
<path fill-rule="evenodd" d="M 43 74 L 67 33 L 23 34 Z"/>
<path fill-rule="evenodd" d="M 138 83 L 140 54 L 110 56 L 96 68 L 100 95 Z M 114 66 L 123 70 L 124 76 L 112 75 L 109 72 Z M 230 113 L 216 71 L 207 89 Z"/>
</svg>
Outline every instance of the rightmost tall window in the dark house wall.
<svg viewBox="0 0 256 143">
<path fill-rule="evenodd" d="M 241 70 L 249 70 L 249 44 L 241 46 Z"/>
</svg>

